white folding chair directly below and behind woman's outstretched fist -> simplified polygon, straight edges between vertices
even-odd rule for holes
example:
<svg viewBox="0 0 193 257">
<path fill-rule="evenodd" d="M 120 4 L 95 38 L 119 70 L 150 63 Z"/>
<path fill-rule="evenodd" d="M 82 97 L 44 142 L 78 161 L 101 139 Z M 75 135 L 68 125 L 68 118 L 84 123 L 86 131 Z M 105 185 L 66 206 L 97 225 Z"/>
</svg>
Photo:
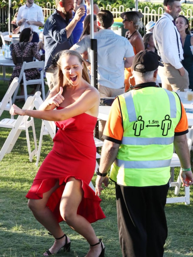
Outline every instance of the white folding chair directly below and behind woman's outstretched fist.
<svg viewBox="0 0 193 257">
<path fill-rule="evenodd" d="M 40 94 L 40 92 L 36 92 L 36 94 L 34 96 L 28 97 L 27 101 L 25 102 L 25 104 L 23 106 L 23 109 L 32 110 L 34 108 L 33 101 L 38 94 Z M 25 130 L 27 145 L 28 145 L 29 159 L 30 159 L 30 162 L 32 162 L 33 156 L 35 154 L 37 154 L 38 147 L 37 147 L 36 132 L 35 132 L 33 118 L 30 117 L 30 120 L 28 120 L 28 119 L 29 119 L 29 116 L 25 115 L 25 116 L 18 116 L 16 120 L 6 118 L 6 119 L 3 119 L 0 121 L 0 127 L 11 128 L 11 132 L 9 133 L 9 135 L 0 151 L 0 161 L 3 159 L 3 157 L 6 153 L 11 152 L 21 131 Z M 33 151 L 31 151 L 29 131 L 28 131 L 28 128 L 30 126 L 32 127 L 32 131 L 33 131 L 33 141 L 34 141 L 34 148 L 35 148 Z"/>
</svg>

